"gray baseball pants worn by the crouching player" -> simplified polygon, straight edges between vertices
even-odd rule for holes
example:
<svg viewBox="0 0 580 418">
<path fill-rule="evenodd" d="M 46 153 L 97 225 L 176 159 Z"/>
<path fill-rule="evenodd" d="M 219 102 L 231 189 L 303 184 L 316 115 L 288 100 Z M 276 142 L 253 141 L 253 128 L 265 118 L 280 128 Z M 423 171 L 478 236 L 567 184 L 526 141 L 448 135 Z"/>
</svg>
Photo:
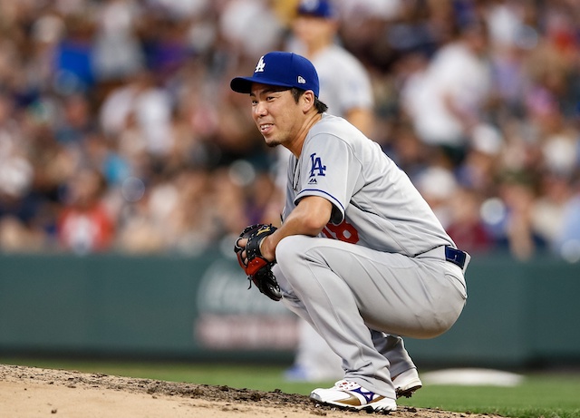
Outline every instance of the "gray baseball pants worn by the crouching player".
<svg viewBox="0 0 580 418">
<path fill-rule="evenodd" d="M 462 270 L 442 254 L 410 258 L 297 235 L 276 247 L 274 273 L 285 306 L 343 359 L 344 378 L 394 399 L 391 375 L 415 367 L 399 335 L 444 333 L 467 299 Z"/>
</svg>

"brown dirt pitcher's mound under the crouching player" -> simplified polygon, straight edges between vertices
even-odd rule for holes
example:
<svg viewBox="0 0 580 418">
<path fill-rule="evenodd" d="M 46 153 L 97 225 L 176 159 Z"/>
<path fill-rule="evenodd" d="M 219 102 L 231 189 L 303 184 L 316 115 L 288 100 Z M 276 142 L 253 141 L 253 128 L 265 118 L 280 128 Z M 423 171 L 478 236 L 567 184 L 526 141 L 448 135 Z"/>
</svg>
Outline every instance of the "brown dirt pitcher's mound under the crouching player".
<svg viewBox="0 0 580 418">
<path fill-rule="evenodd" d="M 17 418 L 344 418 L 301 394 L 0 365 L 0 415 Z M 366 416 L 366 413 L 363 413 Z M 401 406 L 393 418 L 493 418 Z"/>
</svg>

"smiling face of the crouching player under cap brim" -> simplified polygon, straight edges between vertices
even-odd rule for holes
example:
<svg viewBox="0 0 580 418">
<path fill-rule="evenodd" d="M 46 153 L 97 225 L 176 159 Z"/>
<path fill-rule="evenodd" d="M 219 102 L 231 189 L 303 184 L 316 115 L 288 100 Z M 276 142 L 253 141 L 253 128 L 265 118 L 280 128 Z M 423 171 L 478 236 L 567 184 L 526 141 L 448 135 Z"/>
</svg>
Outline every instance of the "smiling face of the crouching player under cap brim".
<svg viewBox="0 0 580 418">
<path fill-rule="evenodd" d="M 266 84 L 253 84 L 252 117 L 266 145 L 288 147 L 300 133 L 304 112 L 292 92 Z"/>
</svg>

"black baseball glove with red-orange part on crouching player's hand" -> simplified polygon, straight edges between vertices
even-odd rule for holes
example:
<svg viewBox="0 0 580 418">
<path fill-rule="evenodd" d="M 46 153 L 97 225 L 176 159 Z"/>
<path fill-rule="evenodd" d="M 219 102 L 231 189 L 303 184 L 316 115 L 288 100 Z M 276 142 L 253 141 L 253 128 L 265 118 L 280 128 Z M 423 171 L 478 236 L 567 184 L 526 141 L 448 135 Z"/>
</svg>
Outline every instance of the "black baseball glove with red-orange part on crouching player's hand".
<svg viewBox="0 0 580 418">
<path fill-rule="evenodd" d="M 260 242 L 268 235 L 272 235 L 275 230 L 276 228 L 272 224 L 256 224 L 246 227 L 237 238 L 234 251 L 237 255 L 237 262 L 246 272 L 247 279 L 250 280 L 250 287 L 254 283 L 260 292 L 270 299 L 278 301 L 282 299 L 282 294 L 274 273 L 272 273 L 275 261 L 266 260 L 260 251 Z M 247 238 L 246 248 L 237 245 L 238 241 L 243 238 Z M 242 258 L 244 249 L 246 249 L 246 259 Z"/>
</svg>

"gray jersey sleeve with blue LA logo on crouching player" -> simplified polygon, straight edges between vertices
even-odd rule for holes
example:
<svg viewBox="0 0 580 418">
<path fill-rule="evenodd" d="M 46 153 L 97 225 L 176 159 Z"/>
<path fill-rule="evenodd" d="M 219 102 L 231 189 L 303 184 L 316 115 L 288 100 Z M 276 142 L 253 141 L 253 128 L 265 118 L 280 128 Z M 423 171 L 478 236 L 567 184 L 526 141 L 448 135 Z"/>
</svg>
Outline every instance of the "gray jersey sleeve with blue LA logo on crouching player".
<svg viewBox="0 0 580 418">
<path fill-rule="evenodd" d="M 340 224 L 360 178 L 360 161 L 346 142 L 324 133 L 304 144 L 300 160 L 301 190 L 295 204 L 306 196 L 327 199 L 333 204 L 331 222 Z"/>
</svg>

